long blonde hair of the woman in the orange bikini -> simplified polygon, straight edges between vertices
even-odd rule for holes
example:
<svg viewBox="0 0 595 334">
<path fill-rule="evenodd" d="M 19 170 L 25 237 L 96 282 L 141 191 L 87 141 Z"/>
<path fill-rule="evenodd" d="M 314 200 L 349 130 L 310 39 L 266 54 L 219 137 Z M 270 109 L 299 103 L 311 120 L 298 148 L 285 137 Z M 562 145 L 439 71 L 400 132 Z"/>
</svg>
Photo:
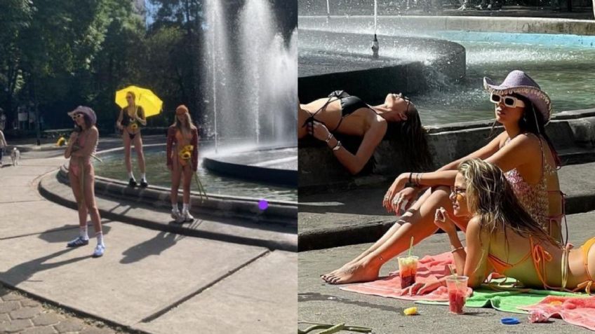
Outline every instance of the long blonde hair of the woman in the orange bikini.
<svg viewBox="0 0 595 334">
<path fill-rule="evenodd" d="M 507 228 L 521 237 L 537 237 L 544 242 L 556 244 L 516 198 L 502 169 L 481 159 L 467 159 L 460 163 L 458 171 L 467 187 L 467 207 L 479 216 L 481 228 L 490 234 Z"/>
</svg>

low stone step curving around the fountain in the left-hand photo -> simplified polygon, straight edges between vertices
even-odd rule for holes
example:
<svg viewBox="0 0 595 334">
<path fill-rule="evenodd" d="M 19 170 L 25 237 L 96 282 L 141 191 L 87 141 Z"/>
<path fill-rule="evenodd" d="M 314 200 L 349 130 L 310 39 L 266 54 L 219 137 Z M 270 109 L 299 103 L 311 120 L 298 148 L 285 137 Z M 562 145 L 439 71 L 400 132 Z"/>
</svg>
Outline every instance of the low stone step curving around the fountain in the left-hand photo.
<svg viewBox="0 0 595 334">
<path fill-rule="evenodd" d="M 62 172 L 64 172 L 63 169 Z M 71 209 L 77 209 L 70 186 L 67 181 L 65 182 L 64 176 L 60 176 L 62 172 L 55 172 L 44 177 L 39 182 L 39 193 L 52 202 Z M 97 187 L 97 183 L 95 183 L 95 186 Z M 96 193 L 96 195 L 98 194 Z M 242 223 L 237 220 L 233 222 L 228 220 L 226 222 L 224 219 L 222 223 L 210 222 L 210 225 L 215 225 L 215 228 L 199 229 L 192 224 L 173 223 L 168 212 L 171 204 L 165 206 L 159 202 L 140 200 L 131 202 L 130 200 L 124 200 L 122 197 L 114 198 L 109 195 L 107 197 L 98 196 L 97 200 L 102 218 L 121 221 L 142 228 L 234 244 L 261 246 L 268 249 L 283 251 L 296 251 L 298 249 L 297 238 L 291 236 L 297 232 L 297 228 L 292 226 L 262 225 L 253 221 Z M 192 214 L 196 215 L 199 221 L 213 218 L 200 211 L 192 210 Z M 295 220 L 297 221 L 297 218 Z M 241 227 L 234 228 L 234 225 L 241 225 Z M 217 228 L 217 226 L 220 226 L 220 228 Z M 246 232 L 247 230 L 248 232 Z"/>
</svg>

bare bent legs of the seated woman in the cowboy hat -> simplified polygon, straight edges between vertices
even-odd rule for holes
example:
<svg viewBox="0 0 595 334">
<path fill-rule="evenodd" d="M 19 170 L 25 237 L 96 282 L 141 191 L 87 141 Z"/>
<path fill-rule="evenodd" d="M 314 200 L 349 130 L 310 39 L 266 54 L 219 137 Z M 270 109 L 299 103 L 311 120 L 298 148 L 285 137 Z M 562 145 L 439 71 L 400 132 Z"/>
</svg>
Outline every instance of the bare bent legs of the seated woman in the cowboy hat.
<svg viewBox="0 0 595 334">
<path fill-rule="evenodd" d="M 413 237 L 414 243 L 422 241 L 432 235 L 438 228 L 434 225 L 436 209 L 444 207 L 453 216 L 452 203 L 448 199 L 448 187 L 432 190 L 427 200 L 419 202 L 419 209 L 412 210 L 413 214 L 403 216 L 401 226 L 387 232 L 382 243 L 377 242 L 359 260 L 344 265 L 339 270 L 323 275 L 323 279 L 333 284 L 345 284 L 355 281 L 372 281 L 377 279 L 380 267 L 394 256 L 405 251 Z M 464 222 L 460 222 L 464 227 Z"/>
</svg>

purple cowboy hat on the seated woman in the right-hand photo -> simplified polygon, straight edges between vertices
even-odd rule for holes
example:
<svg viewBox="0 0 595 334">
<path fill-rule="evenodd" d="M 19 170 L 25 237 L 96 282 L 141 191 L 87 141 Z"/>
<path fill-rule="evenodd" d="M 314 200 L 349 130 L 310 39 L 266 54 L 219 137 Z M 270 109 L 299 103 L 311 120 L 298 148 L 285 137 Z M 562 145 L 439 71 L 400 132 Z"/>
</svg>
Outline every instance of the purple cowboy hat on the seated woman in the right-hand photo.
<svg viewBox="0 0 595 334">
<path fill-rule="evenodd" d="M 526 97 L 530 102 L 533 102 L 535 109 L 542 114 L 544 124 L 549 123 L 551 100 L 546 92 L 541 90 L 540 86 L 525 72 L 519 70 L 510 72 L 500 85 L 496 85 L 492 79 L 484 77 L 483 88 L 496 95 L 515 93 Z"/>
</svg>

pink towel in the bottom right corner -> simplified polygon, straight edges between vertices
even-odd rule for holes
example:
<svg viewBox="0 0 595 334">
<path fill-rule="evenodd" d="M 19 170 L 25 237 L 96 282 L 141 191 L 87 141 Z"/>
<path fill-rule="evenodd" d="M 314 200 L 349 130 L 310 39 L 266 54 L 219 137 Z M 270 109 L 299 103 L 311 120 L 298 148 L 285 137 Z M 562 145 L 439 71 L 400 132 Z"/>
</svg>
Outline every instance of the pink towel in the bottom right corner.
<svg viewBox="0 0 595 334">
<path fill-rule="evenodd" d="M 548 295 L 535 305 L 519 309 L 540 312 L 545 319 L 557 314 L 568 323 L 595 330 L 595 295 L 586 298 Z"/>
</svg>

